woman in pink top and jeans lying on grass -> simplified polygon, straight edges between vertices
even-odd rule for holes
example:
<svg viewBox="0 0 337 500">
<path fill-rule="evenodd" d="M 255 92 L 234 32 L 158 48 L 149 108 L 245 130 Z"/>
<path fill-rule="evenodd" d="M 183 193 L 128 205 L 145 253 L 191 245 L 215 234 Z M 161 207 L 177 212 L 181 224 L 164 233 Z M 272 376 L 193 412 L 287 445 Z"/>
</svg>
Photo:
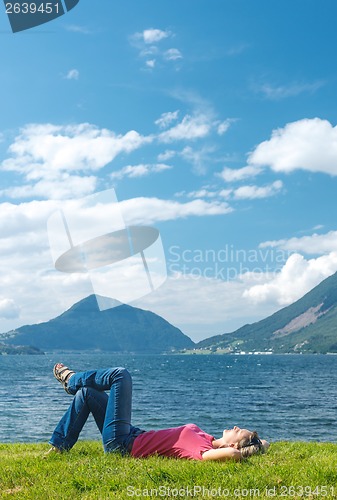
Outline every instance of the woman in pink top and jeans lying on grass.
<svg viewBox="0 0 337 500">
<path fill-rule="evenodd" d="M 131 425 L 132 380 L 125 368 L 75 373 L 62 363 L 54 375 L 68 394 L 75 395 L 49 441 L 48 453 L 70 450 L 90 414 L 102 434 L 105 452 L 133 457 L 162 455 L 194 460 L 241 460 L 265 451 L 269 443 L 256 432 L 233 427 L 220 439 L 194 424 L 143 431 Z M 105 391 L 110 391 L 108 396 Z"/>
</svg>

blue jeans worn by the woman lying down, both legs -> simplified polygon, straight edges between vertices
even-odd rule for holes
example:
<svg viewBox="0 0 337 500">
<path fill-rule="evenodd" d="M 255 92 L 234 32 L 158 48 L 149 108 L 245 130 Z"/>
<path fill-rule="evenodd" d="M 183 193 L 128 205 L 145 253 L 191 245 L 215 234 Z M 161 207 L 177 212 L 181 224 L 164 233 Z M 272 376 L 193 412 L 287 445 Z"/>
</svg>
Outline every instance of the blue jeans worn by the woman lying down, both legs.
<svg viewBox="0 0 337 500">
<path fill-rule="evenodd" d="M 130 373 L 125 368 L 78 372 L 70 378 L 67 388 L 75 397 L 49 443 L 70 450 L 92 413 L 102 434 L 104 451 L 129 453 L 135 438 L 144 432 L 131 425 Z M 104 391 L 110 391 L 110 395 Z"/>
</svg>

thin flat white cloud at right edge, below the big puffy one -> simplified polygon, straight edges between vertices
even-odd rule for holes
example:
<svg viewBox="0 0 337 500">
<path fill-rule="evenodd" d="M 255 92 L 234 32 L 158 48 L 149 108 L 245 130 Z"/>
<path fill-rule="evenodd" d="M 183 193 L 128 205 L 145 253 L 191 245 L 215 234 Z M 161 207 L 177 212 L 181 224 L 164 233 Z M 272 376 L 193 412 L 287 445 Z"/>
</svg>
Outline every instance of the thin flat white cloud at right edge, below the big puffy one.
<svg viewBox="0 0 337 500">
<path fill-rule="evenodd" d="M 309 255 L 335 252 L 337 251 L 337 231 L 329 231 L 326 234 L 312 234 L 301 238 L 265 241 L 260 244 L 260 248 L 266 247 L 279 247 L 291 252 L 302 252 Z"/>
</svg>

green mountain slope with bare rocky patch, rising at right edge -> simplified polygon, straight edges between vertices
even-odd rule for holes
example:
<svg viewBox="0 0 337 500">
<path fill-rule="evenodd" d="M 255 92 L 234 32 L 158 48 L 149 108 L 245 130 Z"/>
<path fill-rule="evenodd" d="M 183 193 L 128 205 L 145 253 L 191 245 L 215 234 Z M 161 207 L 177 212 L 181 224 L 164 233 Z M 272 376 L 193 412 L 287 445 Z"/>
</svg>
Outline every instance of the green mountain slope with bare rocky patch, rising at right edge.
<svg viewBox="0 0 337 500">
<path fill-rule="evenodd" d="M 337 353 L 337 273 L 272 316 L 195 347 L 219 352 Z"/>
</svg>

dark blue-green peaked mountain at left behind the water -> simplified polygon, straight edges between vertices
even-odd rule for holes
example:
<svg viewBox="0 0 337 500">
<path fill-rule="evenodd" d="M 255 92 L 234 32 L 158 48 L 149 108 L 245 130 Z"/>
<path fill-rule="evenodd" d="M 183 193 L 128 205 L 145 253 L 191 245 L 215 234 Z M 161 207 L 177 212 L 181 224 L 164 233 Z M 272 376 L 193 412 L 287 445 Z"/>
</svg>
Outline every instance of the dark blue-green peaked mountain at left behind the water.
<svg viewBox="0 0 337 500">
<path fill-rule="evenodd" d="M 150 311 L 125 304 L 101 311 L 95 295 L 46 323 L 12 330 L 2 340 L 42 350 L 160 353 L 194 346 L 181 330 Z"/>
</svg>

